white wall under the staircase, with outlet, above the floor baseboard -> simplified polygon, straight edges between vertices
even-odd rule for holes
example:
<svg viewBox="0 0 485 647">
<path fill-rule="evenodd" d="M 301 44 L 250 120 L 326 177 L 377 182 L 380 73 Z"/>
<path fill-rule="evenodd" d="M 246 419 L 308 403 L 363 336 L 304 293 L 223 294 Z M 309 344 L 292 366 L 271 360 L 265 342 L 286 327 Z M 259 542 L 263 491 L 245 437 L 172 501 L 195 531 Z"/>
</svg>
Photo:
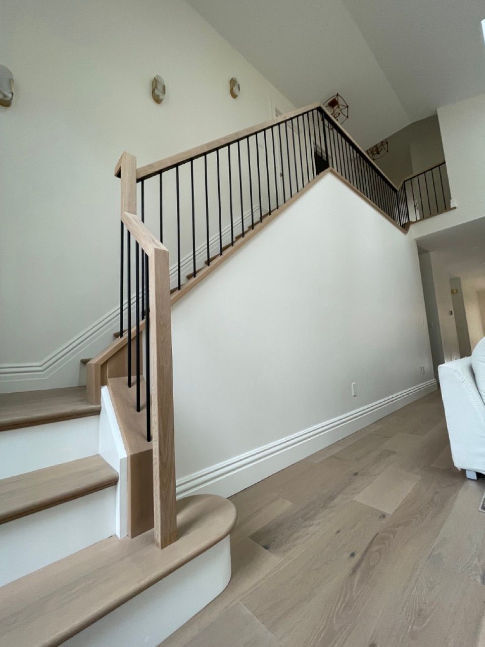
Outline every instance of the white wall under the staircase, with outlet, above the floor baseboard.
<svg viewBox="0 0 485 647">
<path fill-rule="evenodd" d="M 177 480 L 433 378 L 415 241 L 330 174 L 172 313 Z"/>
</svg>

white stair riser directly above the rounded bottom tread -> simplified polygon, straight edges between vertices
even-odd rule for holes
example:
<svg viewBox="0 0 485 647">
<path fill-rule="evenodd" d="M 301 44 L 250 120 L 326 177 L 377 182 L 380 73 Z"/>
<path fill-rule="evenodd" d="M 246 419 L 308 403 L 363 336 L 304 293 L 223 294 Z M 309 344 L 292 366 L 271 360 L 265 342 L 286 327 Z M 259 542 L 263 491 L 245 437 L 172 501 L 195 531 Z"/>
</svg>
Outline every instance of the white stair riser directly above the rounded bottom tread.
<svg viewBox="0 0 485 647">
<path fill-rule="evenodd" d="M 116 534 L 116 487 L 8 521 L 0 531 L 0 586 Z"/>
</svg>

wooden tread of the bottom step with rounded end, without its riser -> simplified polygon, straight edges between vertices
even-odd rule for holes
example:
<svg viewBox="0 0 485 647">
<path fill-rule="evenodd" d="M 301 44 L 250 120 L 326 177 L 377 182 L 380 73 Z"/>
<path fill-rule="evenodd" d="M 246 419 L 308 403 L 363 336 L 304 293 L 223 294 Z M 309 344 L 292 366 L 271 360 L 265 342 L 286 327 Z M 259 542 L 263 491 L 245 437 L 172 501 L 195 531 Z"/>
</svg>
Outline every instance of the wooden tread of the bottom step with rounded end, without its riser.
<svg viewBox="0 0 485 647">
<path fill-rule="evenodd" d="M 153 530 L 110 537 L 0 589 L 0 647 L 55 647 L 220 542 L 233 503 L 210 494 L 177 502 L 178 541 L 156 547 Z"/>
</svg>

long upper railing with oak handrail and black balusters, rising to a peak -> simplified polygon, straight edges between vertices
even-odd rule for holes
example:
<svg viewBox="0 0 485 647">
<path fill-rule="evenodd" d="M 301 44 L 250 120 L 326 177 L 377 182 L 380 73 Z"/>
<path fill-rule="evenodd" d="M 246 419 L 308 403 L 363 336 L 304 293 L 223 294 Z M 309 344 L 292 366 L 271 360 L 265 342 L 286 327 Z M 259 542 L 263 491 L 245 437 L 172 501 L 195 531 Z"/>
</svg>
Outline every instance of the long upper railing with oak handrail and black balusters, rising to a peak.
<svg viewBox="0 0 485 647">
<path fill-rule="evenodd" d="M 171 250 L 171 287 L 180 291 L 327 168 L 396 225 L 409 221 L 404 188 L 320 104 L 138 168 L 140 217 Z"/>
</svg>

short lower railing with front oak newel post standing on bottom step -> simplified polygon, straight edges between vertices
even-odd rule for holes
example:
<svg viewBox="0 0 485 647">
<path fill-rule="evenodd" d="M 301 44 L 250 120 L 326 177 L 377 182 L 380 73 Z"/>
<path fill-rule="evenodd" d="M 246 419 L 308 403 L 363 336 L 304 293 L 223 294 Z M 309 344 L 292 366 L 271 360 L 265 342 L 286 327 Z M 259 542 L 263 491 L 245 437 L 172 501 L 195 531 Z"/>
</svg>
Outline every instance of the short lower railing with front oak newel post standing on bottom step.
<svg viewBox="0 0 485 647">
<path fill-rule="evenodd" d="M 123 153 L 121 175 L 121 288 L 120 333 L 131 334 L 127 344 L 127 388 L 136 389 L 141 411 L 141 366 L 144 345 L 147 441 L 153 450 L 153 506 L 155 543 L 164 548 L 177 539 L 175 443 L 173 431 L 173 373 L 169 252 L 136 215 L 136 158 Z M 126 230 L 126 232 L 125 232 Z M 126 263 L 124 241 L 126 233 Z M 135 242 L 133 246 L 132 239 Z M 133 249 L 134 247 L 134 249 Z M 135 276 L 131 275 L 135 254 Z M 124 276 L 126 269 L 126 276 Z M 132 278 L 135 280 L 135 327 L 131 326 Z M 140 283 L 141 278 L 141 283 Z M 127 330 L 124 331 L 124 280 L 127 290 Z M 143 344 L 144 337 L 144 344 Z"/>
</svg>

